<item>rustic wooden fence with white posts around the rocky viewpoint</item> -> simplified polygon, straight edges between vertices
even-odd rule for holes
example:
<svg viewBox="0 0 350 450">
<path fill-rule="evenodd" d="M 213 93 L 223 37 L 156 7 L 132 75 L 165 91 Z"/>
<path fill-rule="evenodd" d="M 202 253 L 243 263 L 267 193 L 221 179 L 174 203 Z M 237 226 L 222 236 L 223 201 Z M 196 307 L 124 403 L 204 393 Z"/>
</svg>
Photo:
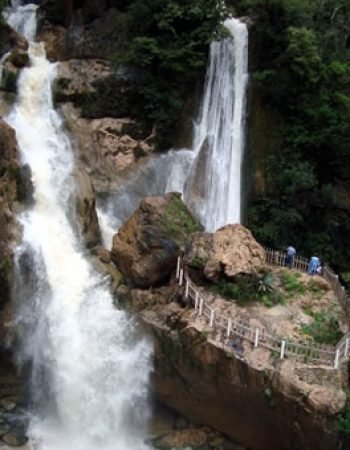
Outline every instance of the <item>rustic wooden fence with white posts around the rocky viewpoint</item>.
<svg viewBox="0 0 350 450">
<path fill-rule="evenodd" d="M 285 265 L 285 256 L 281 252 L 266 250 L 266 262 L 270 264 Z M 299 270 L 307 270 L 308 262 L 300 257 L 295 258 L 294 267 Z M 327 272 L 327 274 L 333 276 L 332 271 Z M 218 314 L 205 300 L 189 275 L 184 272 L 180 257 L 177 260 L 176 278 L 180 286 L 184 285 L 185 299 L 190 302 L 199 316 L 206 319 L 209 327 L 220 332 L 222 339 L 227 340 L 227 342 L 230 342 L 236 336 L 249 341 L 255 348 L 261 346 L 274 352 L 280 359 L 292 357 L 304 363 L 326 365 L 334 369 L 338 369 L 342 362 L 349 359 L 350 333 L 346 334 L 336 346 L 292 341 L 274 335 L 264 327 L 252 327 L 248 316 L 239 314 L 223 316 Z"/>
</svg>

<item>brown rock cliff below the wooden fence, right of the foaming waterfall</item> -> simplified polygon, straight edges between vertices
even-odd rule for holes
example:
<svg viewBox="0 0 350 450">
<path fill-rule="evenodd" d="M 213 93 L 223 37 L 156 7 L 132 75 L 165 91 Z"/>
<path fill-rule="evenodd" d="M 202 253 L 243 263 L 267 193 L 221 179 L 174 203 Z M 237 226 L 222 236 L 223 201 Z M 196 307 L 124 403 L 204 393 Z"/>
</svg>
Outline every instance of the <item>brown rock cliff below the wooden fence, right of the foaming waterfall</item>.
<svg viewBox="0 0 350 450">
<path fill-rule="evenodd" d="M 336 450 L 344 407 L 341 371 L 281 361 L 244 340 L 224 339 L 176 302 L 177 288 L 133 290 L 155 341 L 157 397 L 254 450 Z"/>
</svg>

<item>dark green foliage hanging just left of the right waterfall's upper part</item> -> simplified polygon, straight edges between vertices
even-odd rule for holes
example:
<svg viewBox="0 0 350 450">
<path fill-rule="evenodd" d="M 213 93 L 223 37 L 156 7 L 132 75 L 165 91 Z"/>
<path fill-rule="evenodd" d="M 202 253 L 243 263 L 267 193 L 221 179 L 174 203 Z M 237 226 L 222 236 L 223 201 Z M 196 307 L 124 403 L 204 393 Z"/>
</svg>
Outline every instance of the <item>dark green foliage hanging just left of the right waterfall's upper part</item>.
<svg viewBox="0 0 350 450">
<path fill-rule="evenodd" d="M 157 124 L 160 147 L 203 73 L 208 44 L 223 34 L 225 7 L 216 0 L 132 0 L 127 39 L 117 63 L 137 69 L 139 114 Z"/>
</svg>

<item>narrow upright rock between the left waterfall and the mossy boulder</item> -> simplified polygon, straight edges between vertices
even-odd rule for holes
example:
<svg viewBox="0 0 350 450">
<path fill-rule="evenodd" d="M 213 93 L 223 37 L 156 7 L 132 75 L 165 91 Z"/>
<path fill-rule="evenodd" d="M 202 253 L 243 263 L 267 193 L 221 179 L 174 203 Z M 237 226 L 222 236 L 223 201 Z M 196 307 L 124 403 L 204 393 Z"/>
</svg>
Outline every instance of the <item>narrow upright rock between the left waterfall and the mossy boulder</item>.
<svg viewBox="0 0 350 450">
<path fill-rule="evenodd" d="M 77 219 L 87 247 L 93 247 L 101 240 L 94 188 L 84 169 L 75 169 L 74 175 Z"/>
</svg>

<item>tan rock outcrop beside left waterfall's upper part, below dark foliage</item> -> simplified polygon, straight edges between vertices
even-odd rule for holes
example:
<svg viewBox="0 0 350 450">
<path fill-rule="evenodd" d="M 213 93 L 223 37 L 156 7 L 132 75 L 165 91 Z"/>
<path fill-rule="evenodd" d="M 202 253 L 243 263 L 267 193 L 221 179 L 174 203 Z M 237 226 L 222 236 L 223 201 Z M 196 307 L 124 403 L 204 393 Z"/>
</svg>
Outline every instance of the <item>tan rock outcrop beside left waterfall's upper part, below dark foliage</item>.
<svg viewBox="0 0 350 450">
<path fill-rule="evenodd" d="M 98 192 L 108 192 L 118 176 L 154 151 L 154 135 L 134 120 L 83 119 L 71 104 L 64 104 L 62 113 L 76 139 L 77 157 Z"/>
</svg>

